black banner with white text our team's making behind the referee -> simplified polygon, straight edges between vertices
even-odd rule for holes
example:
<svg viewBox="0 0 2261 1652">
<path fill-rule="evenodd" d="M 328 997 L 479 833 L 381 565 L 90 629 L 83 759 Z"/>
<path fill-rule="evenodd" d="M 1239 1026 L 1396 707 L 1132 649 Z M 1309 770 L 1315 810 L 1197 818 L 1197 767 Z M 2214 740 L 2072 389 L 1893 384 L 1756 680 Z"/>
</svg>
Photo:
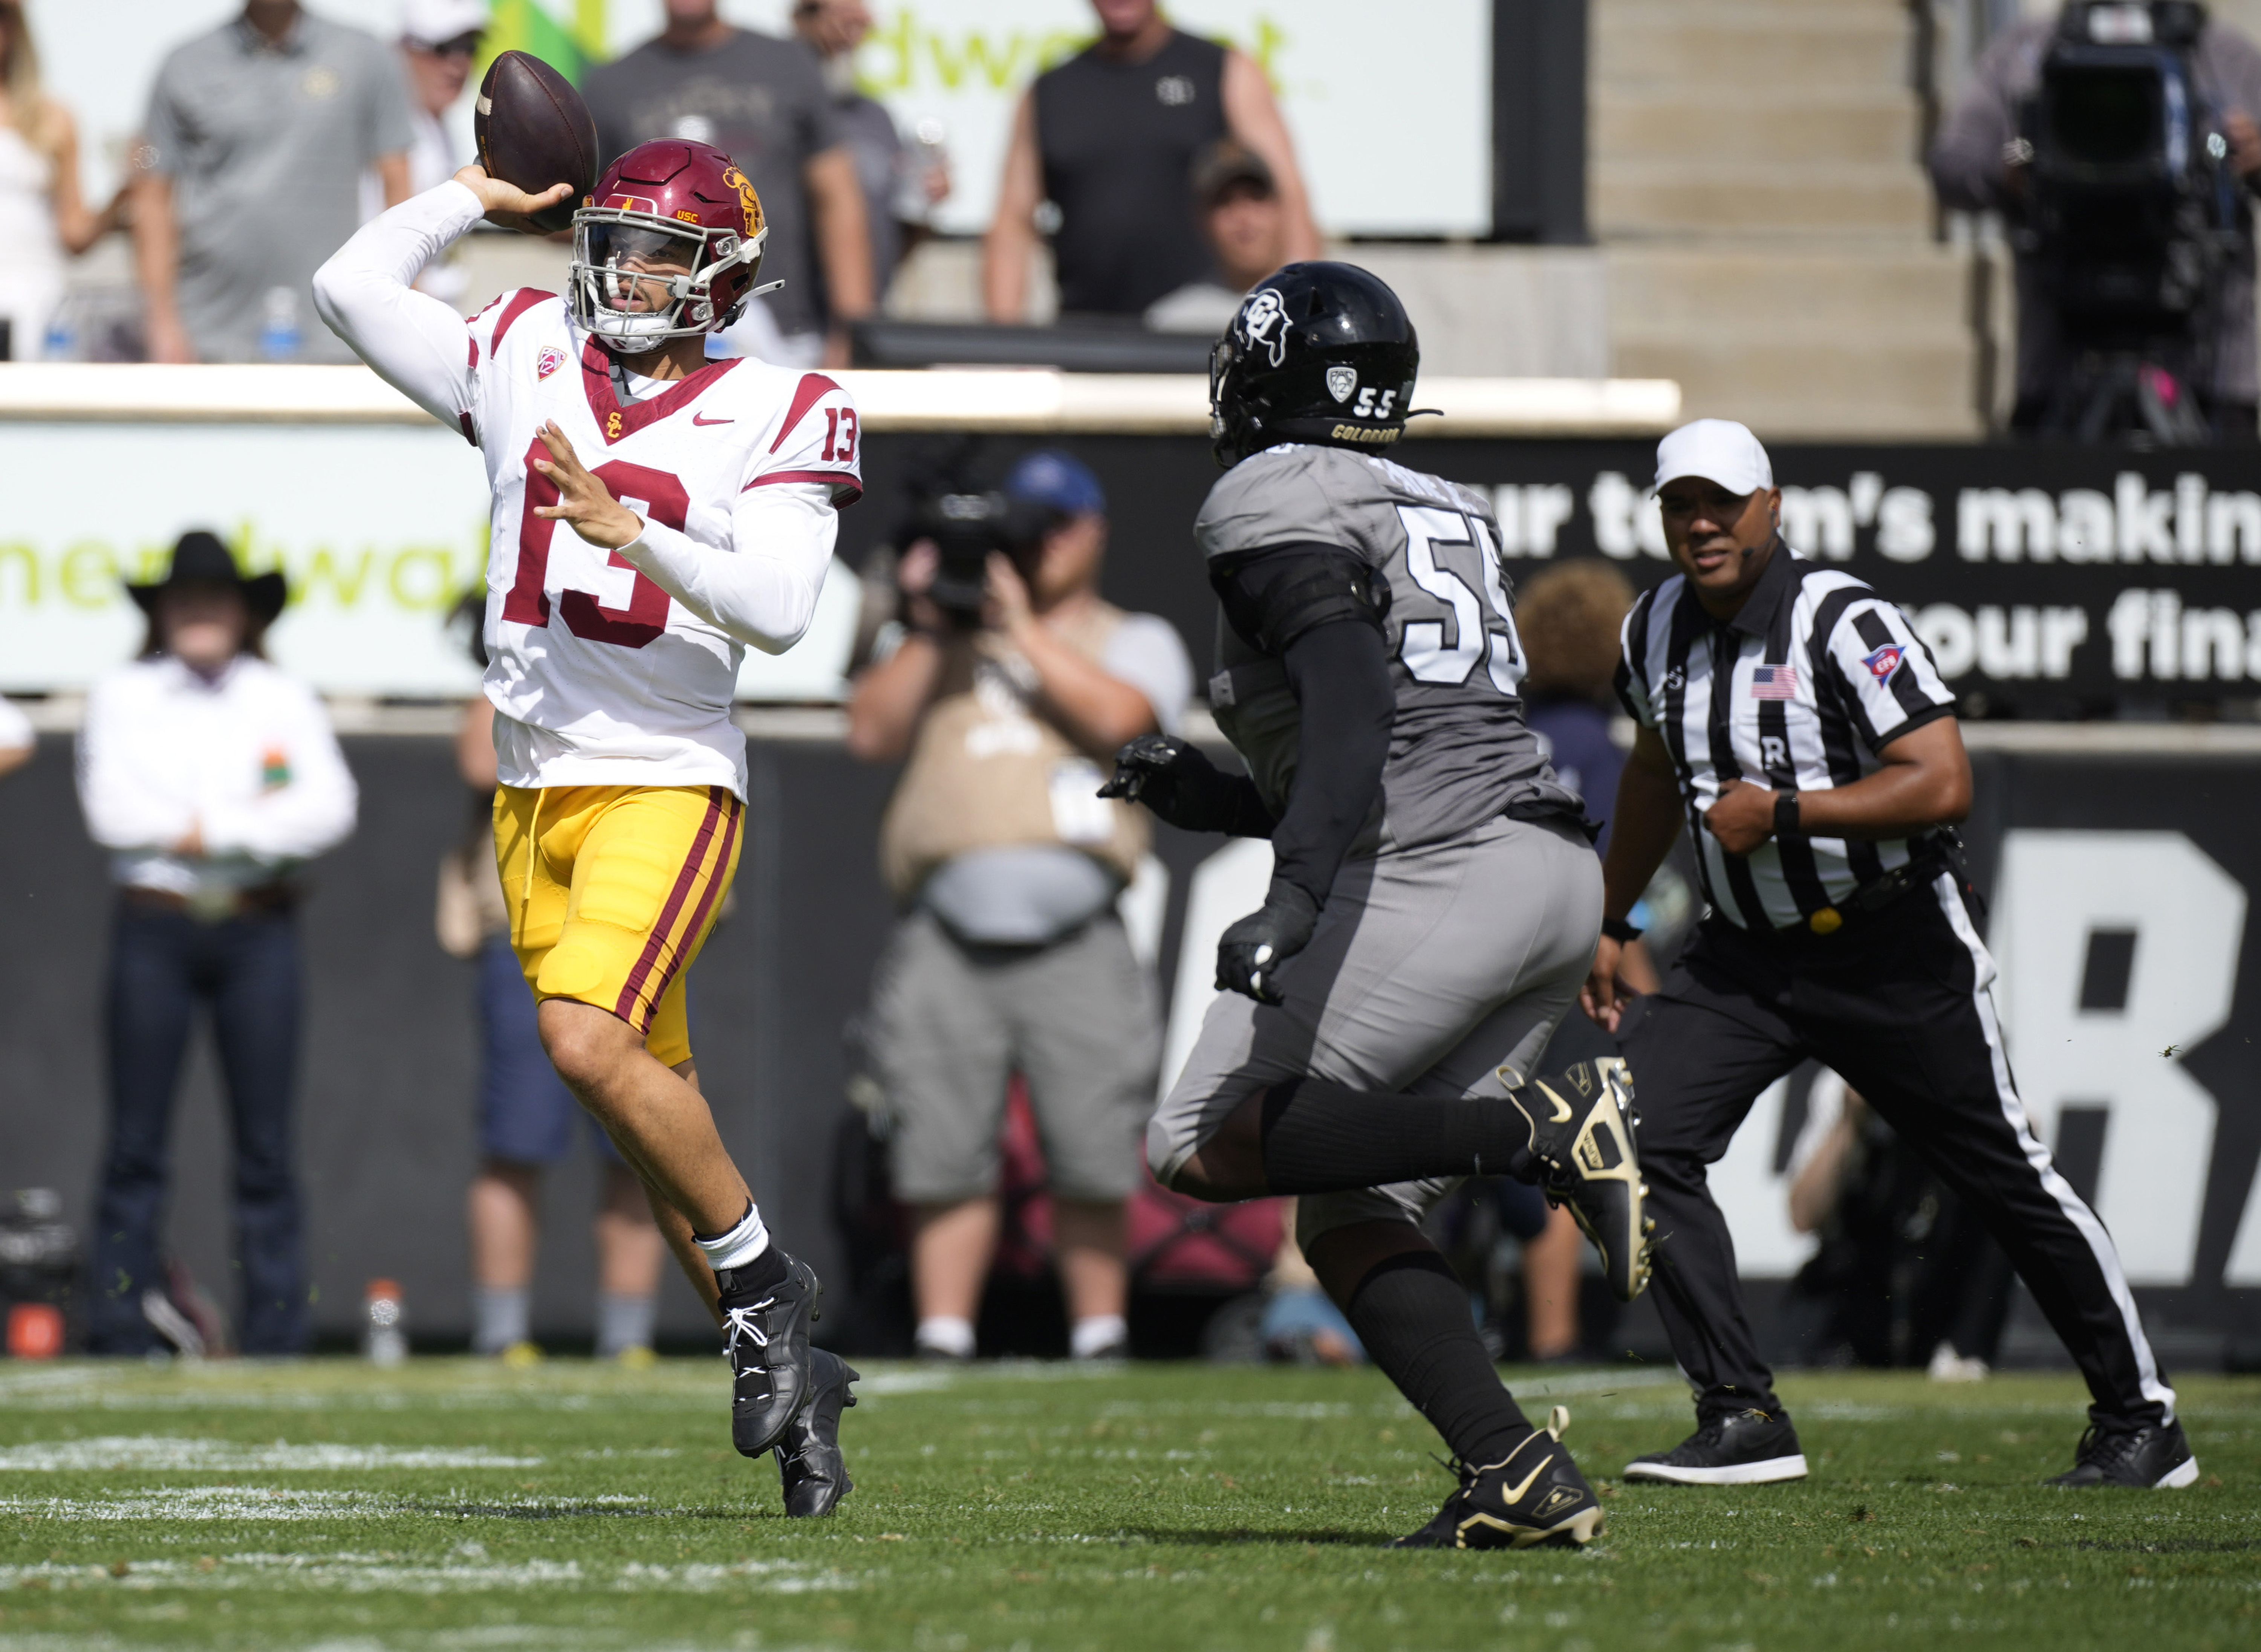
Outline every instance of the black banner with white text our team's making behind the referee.
<svg viewBox="0 0 2261 1652">
<path fill-rule="evenodd" d="M 891 520 L 911 436 L 877 438 L 850 538 Z M 1031 438 L 995 438 L 1004 466 Z M 1115 502 L 1110 579 L 1207 651 L 1216 603 L 1189 527 L 1216 481 L 1198 438 L 1069 436 Z M 1915 619 L 1940 671 L 1985 707 L 2094 716 L 2261 696 L 2261 450 L 1773 443 L 1784 538 Z M 1490 495 L 1522 581 L 1599 556 L 1635 585 L 1671 574 L 1651 441 L 1424 436 L 1400 463 Z M 1004 475 L 1002 468 L 995 475 Z"/>
</svg>

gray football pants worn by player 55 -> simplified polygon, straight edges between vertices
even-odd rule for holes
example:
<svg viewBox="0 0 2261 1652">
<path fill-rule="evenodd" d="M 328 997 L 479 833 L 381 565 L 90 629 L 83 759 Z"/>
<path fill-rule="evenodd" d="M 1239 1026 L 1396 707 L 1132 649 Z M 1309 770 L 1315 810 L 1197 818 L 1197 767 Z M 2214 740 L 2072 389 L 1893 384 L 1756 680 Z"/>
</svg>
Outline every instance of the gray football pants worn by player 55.
<svg viewBox="0 0 2261 1652">
<path fill-rule="evenodd" d="M 1219 992 L 1146 1123 L 1167 1186 L 1250 1092 L 1287 1078 L 1504 1098 L 1578 1001 L 1601 936 L 1601 859 L 1569 823 L 1485 820 L 1449 843 L 1348 861 L 1311 945 L 1280 967 L 1282 1006 Z M 1334 1227 L 1418 1223 L 1458 1177 L 1311 1193 L 1309 1245 Z"/>
</svg>

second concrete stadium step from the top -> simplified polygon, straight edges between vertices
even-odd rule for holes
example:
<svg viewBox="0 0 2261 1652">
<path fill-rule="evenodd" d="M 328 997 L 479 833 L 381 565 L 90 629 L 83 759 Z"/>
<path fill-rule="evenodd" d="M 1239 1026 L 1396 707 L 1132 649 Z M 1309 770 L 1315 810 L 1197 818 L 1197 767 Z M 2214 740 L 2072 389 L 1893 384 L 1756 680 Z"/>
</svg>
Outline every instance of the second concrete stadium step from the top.
<svg viewBox="0 0 2261 1652">
<path fill-rule="evenodd" d="M 1594 97 L 1589 156 L 1617 160 L 1793 163 L 1911 160 L 1915 97 L 1899 88 L 1752 95 L 1734 120 L 1691 88 L 1612 88 Z"/>
</svg>

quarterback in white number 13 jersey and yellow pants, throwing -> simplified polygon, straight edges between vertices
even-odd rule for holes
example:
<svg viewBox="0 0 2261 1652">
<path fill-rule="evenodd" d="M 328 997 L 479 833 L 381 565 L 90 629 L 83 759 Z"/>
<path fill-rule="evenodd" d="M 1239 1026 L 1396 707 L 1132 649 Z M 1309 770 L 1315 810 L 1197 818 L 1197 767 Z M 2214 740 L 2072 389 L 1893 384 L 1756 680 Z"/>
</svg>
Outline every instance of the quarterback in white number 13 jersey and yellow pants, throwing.
<svg viewBox="0 0 2261 1652">
<path fill-rule="evenodd" d="M 823 1514 L 848 1489 L 855 1372 L 809 1349 L 816 1275 L 771 1241 L 714 1130 L 683 1006 L 744 841 L 739 660 L 785 653 L 816 612 L 861 493 L 857 409 L 821 373 L 705 359 L 769 235 L 710 145 L 606 169 L 563 298 L 520 289 L 464 321 L 409 287 L 482 217 L 529 228 L 568 194 L 464 167 L 346 242 L 314 303 L 486 457 L 495 859 L 543 1046 L 726 1329 L 733 1444 L 776 1446 L 787 1510 Z"/>
</svg>

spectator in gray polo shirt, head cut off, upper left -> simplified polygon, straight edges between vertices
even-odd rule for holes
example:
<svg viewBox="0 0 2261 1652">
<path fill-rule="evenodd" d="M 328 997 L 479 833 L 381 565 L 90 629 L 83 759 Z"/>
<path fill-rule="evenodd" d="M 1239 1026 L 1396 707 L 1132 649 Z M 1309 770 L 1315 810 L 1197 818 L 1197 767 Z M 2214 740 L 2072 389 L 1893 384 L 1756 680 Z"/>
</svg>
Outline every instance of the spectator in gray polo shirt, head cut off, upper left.
<svg viewBox="0 0 2261 1652">
<path fill-rule="evenodd" d="M 298 0 L 176 47 L 133 151 L 149 359 L 353 362 L 314 271 L 362 224 L 364 167 L 407 199 L 414 136 L 391 47 Z"/>
</svg>

